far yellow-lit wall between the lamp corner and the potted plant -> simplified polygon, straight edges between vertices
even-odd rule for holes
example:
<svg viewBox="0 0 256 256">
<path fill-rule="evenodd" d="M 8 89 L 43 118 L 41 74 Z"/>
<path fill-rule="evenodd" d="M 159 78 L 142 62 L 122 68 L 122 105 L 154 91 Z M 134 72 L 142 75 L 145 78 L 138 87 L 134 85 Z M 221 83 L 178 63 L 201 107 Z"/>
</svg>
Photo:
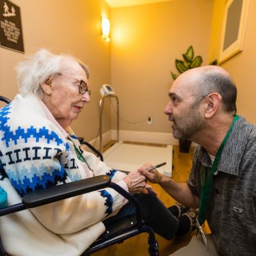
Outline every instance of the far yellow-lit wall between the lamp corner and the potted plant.
<svg viewBox="0 0 256 256">
<path fill-rule="evenodd" d="M 132 122 L 152 116 L 152 124 L 127 124 L 129 131 L 170 132 L 163 114 L 175 58 L 193 45 L 207 64 L 211 0 L 180 0 L 111 10 L 111 84 L 120 115 Z"/>
</svg>

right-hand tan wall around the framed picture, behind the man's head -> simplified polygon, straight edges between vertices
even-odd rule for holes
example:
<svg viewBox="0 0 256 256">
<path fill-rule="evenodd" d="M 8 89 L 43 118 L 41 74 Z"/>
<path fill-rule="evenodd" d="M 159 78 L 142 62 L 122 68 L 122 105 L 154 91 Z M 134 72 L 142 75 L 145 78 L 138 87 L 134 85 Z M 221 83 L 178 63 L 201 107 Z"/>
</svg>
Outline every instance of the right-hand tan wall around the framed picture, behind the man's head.
<svg viewBox="0 0 256 256">
<path fill-rule="evenodd" d="M 219 58 L 221 24 L 225 1 L 214 0 L 214 11 L 212 15 L 211 44 L 209 58 Z M 244 38 L 244 50 L 236 56 L 225 61 L 221 67 L 225 68 L 232 76 L 237 86 L 237 110 L 248 121 L 256 123 L 256 86 L 255 86 L 255 56 L 256 56 L 256 1 L 251 0 L 247 17 L 246 34 Z"/>
</svg>

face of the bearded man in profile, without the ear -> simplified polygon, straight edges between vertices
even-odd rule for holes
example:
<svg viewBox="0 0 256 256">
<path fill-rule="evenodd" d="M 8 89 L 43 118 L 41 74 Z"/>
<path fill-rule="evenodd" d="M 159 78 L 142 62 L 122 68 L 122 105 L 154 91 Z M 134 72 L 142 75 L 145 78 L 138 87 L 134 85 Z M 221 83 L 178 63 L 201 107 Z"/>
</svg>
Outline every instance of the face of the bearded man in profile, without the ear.
<svg viewBox="0 0 256 256">
<path fill-rule="evenodd" d="M 170 101 L 164 108 L 164 113 L 173 122 L 173 137 L 191 140 L 204 125 L 200 113 L 200 104 L 194 105 L 195 86 L 187 79 L 177 79 L 169 92 Z"/>
</svg>

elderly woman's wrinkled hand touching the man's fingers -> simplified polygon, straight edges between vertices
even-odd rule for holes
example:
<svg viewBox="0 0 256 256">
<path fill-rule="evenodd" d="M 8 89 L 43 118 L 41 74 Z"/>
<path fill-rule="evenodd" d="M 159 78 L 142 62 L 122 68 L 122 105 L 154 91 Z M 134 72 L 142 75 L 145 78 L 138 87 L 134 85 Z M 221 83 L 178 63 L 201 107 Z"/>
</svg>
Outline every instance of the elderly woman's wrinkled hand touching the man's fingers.
<svg viewBox="0 0 256 256">
<path fill-rule="evenodd" d="M 127 184 L 130 193 L 144 193 L 144 190 L 146 190 L 146 178 L 138 170 L 129 172 L 124 177 L 124 182 Z"/>
</svg>

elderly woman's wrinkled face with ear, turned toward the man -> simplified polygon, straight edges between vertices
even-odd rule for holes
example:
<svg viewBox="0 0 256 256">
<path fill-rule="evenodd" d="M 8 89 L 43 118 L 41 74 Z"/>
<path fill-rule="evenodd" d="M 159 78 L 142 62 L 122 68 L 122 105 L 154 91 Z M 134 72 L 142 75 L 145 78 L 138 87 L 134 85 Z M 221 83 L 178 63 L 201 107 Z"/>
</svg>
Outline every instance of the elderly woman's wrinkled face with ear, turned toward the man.
<svg viewBox="0 0 256 256">
<path fill-rule="evenodd" d="M 83 110 L 84 103 L 90 102 L 88 92 L 79 92 L 80 81 L 88 84 L 83 68 L 75 61 L 63 62 L 60 74 L 52 76 L 49 83 L 42 83 L 43 102 L 57 122 L 67 127 Z"/>
</svg>

